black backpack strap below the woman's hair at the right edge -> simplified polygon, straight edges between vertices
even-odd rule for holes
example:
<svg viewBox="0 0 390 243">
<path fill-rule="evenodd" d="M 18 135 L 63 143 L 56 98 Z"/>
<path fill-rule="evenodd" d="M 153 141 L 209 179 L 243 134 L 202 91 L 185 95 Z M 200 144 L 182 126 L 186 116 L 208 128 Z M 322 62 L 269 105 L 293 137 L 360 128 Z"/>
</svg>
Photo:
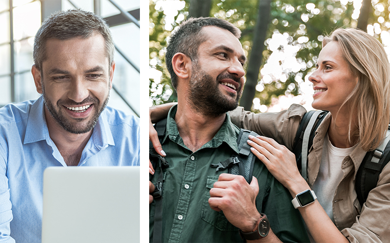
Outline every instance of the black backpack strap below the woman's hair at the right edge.
<svg viewBox="0 0 390 243">
<path fill-rule="evenodd" d="M 390 125 L 386 138 L 373 151 L 367 152 L 356 174 L 355 189 L 360 206 L 366 202 L 369 192 L 376 187 L 379 174 L 390 160 Z"/>
</svg>

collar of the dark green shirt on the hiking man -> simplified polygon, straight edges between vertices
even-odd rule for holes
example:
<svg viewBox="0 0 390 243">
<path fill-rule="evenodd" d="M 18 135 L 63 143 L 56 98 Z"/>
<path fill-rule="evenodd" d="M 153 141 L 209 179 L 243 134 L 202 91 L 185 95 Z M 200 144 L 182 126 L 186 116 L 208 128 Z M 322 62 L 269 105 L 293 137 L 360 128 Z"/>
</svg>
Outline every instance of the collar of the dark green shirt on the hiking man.
<svg viewBox="0 0 390 243">
<path fill-rule="evenodd" d="M 179 131 L 177 129 L 177 124 L 175 121 L 176 111 L 177 111 L 177 105 L 174 105 L 168 113 L 166 133 L 164 139 L 162 140 L 162 143 L 164 143 L 164 141 L 167 139 L 168 136 L 175 142 L 178 142 L 178 140 L 182 140 L 180 138 Z M 204 144 L 202 148 L 206 148 L 206 147 L 216 148 L 219 147 L 222 144 L 222 142 L 225 142 L 234 150 L 234 152 L 238 154 L 238 146 L 237 146 L 238 132 L 239 132 L 238 127 L 236 127 L 231 122 L 229 113 L 226 113 L 225 121 L 223 122 L 221 128 L 215 134 L 214 138 L 211 141 Z"/>
</svg>

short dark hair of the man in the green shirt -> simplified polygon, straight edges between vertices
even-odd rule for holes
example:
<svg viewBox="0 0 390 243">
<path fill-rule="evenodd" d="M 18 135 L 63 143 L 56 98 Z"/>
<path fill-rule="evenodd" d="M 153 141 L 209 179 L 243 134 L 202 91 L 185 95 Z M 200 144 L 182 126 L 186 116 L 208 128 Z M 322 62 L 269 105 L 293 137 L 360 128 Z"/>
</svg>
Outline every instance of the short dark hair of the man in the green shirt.
<svg viewBox="0 0 390 243">
<path fill-rule="evenodd" d="M 175 89 L 177 88 L 177 76 L 172 67 L 172 58 L 177 52 L 181 52 L 190 57 L 192 61 L 196 61 L 198 48 L 200 44 L 206 41 L 205 35 L 201 32 L 205 26 L 219 27 L 230 31 L 237 39 L 241 37 L 241 31 L 232 23 L 215 17 L 189 18 L 181 23 L 179 28 L 171 35 L 167 52 L 165 53 L 165 63 Z"/>
</svg>

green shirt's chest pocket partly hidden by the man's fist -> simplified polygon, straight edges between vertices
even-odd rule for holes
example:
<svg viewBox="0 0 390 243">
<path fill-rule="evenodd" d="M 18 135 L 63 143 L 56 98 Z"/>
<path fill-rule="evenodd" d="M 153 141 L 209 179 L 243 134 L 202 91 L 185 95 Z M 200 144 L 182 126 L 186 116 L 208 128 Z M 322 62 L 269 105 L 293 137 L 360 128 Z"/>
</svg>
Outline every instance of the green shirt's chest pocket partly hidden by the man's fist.
<svg viewBox="0 0 390 243">
<path fill-rule="evenodd" d="M 226 219 L 222 211 L 215 211 L 210 208 L 209 198 L 210 198 L 210 189 L 213 188 L 214 183 L 218 180 L 218 177 L 208 176 L 206 182 L 206 191 L 203 196 L 203 205 L 202 205 L 202 220 L 207 223 L 215 226 L 215 228 L 221 231 L 238 231 L 238 228 L 233 226 Z"/>
</svg>

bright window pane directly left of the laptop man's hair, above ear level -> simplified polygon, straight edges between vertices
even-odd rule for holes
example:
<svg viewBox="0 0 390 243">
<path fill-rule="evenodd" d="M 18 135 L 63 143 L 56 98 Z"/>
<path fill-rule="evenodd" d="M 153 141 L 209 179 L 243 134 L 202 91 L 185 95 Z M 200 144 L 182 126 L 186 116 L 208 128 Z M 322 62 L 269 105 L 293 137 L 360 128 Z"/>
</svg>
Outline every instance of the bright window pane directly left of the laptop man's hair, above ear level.
<svg viewBox="0 0 390 243">
<path fill-rule="evenodd" d="M 30 70 L 33 66 L 34 37 L 15 42 L 15 72 Z"/>
</svg>

